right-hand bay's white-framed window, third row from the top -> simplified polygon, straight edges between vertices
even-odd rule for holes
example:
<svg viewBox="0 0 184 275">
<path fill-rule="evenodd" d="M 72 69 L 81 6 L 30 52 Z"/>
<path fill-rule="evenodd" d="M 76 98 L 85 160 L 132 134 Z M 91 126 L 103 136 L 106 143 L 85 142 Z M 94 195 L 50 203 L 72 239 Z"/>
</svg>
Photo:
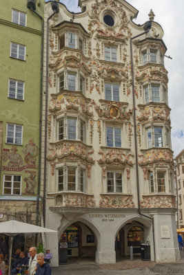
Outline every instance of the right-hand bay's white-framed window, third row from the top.
<svg viewBox="0 0 184 275">
<path fill-rule="evenodd" d="M 147 146 L 148 148 L 152 147 L 152 139 L 154 138 L 155 147 L 163 147 L 163 128 L 154 127 L 154 136 L 152 137 L 152 129 L 147 129 Z"/>
</svg>

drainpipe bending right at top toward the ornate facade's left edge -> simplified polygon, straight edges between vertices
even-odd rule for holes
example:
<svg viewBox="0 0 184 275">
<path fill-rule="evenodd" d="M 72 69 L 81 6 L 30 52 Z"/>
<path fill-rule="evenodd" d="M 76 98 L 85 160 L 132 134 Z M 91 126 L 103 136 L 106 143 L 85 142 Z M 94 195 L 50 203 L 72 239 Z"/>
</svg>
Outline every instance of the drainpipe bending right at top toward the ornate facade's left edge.
<svg viewBox="0 0 184 275">
<path fill-rule="evenodd" d="M 48 137 L 48 38 L 49 38 L 49 21 L 54 14 L 59 12 L 57 1 L 51 2 L 54 12 L 47 19 L 47 41 L 46 41 L 46 78 L 45 78 L 45 141 L 44 141 L 44 173 L 43 173 L 43 224 L 45 226 L 45 197 L 46 197 L 46 169 L 47 169 L 47 137 Z"/>
</svg>

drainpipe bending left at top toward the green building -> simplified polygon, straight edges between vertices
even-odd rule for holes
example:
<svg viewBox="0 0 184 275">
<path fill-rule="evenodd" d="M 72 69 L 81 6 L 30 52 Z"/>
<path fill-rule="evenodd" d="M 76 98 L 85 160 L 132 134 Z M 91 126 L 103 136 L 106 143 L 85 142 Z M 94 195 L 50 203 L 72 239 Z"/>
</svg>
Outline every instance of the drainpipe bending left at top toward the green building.
<svg viewBox="0 0 184 275">
<path fill-rule="evenodd" d="M 32 12 L 37 14 L 41 19 L 41 72 L 40 72 L 40 103 L 39 103 L 39 176 L 37 190 L 37 218 L 36 225 L 39 225 L 39 200 L 40 200 L 40 184 L 41 184 L 41 115 L 42 115 L 42 90 L 43 90 L 43 17 L 30 8 Z M 37 244 L 38 234 L 36 234 L 35 243 Z"/>
</svg>

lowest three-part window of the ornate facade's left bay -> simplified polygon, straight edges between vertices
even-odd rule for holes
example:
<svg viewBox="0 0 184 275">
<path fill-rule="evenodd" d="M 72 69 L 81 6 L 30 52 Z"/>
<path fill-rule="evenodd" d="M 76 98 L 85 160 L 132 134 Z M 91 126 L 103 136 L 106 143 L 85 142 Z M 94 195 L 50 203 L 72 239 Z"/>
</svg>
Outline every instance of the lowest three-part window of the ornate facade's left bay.
<svg viewBox="0 0 184 275">
<path fill-rule="evenodd" d="M 65 169 L 58 169 L 58 191 L 81 191 L 84 190 L 85 169 L 67 165 Z M 79 186 L 78 183 L 79 182 Z M 65 186 L 65 187 L 64 187 Z M 79 189 L 79 190 L 78 190 Z"/>
</svg>

